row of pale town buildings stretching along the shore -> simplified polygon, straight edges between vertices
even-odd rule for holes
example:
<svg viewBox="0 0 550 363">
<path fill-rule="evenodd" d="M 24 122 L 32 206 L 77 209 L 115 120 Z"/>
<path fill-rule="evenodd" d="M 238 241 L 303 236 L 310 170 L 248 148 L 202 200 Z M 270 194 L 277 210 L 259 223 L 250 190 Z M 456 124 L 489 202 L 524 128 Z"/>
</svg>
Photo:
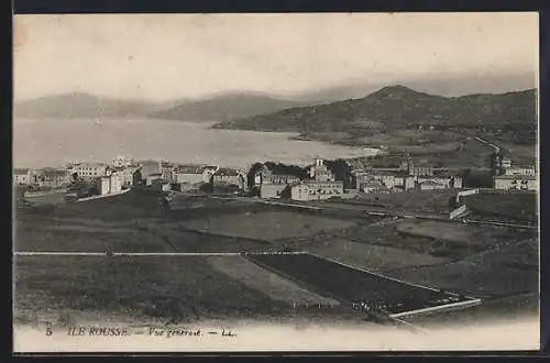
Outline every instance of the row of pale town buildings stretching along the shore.
<svg viewBox="0 0 550 363">
<path fill-rule="evenodd" d="M 491 163 L 493 188 L 508 191 L 537 190 L 532 165 L 514 165 L 499 152 Z M 410 157 L 394 168 L 354 168 L 346 161 L 317 158 L 309 166 L 256 163 L 249 170 L 218 165 L 189 165 L 167 161 L 135 162 L 118 156 L 110 163 L 70 163 L 65 168 L 15 168 L 19 197 L 64 194 L 65 201 L 90 200 L 145 188 L 165 194 L 216 193 L 314 201 L 353 199 L 362 194 L 393 194 L 410 190 L 447 190 L 464 186 L 463 173 L 443 167 L 415 166 Z"/>
</svg>

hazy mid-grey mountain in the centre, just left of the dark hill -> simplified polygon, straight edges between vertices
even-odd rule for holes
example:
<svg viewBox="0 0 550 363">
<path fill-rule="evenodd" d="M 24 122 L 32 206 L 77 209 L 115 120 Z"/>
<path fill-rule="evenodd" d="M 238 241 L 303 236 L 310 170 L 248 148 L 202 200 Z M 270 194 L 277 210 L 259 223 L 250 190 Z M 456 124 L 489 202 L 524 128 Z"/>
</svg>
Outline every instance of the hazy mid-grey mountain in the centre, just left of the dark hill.
<svg viewBox="0 0 550 363">
<path fill-rule="evenodd" d="M 297 102 L 261 94 L 227 94 L 202 100 L 188 100 L 150 114 L 150 118 L 180 121 L 229 121 L 295 108 L 311 102 Z"/>
</svg>

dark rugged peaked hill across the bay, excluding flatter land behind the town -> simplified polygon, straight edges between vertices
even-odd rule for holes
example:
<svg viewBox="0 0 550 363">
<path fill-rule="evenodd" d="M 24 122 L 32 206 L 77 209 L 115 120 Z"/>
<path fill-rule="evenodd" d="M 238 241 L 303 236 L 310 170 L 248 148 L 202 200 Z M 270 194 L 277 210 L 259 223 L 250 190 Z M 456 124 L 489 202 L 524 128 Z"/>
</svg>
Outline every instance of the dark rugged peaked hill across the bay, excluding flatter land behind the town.
<svg viewBox="0 0 550 363">
<path fill-rule="evenodd" d="M 323 141 L 338 141 L 334 139 L 338 135 L 353 142 L 374 133 L 418 130 L 422 125 L 506 129 L 532 134 L 537 127 L 536 91 L 443 97 L 398 85 L 359 99 L 285 109 L 218 123 L 215 128 L 298 132 L 307 139 Z"/>
</svg>

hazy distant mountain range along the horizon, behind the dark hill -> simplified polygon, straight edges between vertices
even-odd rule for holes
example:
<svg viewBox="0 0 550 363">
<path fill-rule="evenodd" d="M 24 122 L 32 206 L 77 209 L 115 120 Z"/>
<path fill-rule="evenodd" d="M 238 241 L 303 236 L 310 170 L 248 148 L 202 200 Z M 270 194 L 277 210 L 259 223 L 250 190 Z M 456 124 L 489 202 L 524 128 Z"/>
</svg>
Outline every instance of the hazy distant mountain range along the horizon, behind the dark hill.
<svg viewBox="0 0 550 363">
<path fill-rule="evenodd" d="M 457 96 L 479 92 L 505 92 L 534 88 L 529 74 L 477 77 L 440 77 L 408 80 L 403 85 L 431 95 Z M 226 122 L 234 119 L 273 113 L 285 109 L 361 99 L 384 85 L 364 81 L 349 82 L 296 95 L 268 95 L 255 91 L 233 91 L 200 99 L 170 101 L 120 100 L 88 94 L 63 94 L 19 101 L 14 116 L 21 118 L 151 118 L 190 122 Z"/>
</svg>

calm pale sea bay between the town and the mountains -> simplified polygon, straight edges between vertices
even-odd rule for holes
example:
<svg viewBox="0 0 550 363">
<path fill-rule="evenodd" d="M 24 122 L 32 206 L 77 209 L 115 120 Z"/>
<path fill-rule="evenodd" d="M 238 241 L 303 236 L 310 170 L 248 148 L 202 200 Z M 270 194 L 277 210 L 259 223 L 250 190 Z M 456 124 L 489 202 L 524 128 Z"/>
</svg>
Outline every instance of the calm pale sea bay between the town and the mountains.
<svg viewBox="0 0 550 363">
<path fill-rule="evenodd" d="M 72 162 L 110 162 L 117 156 L 248 168 L 273 161 L 307 165 L 369 156 L 375 148 L 293 140 L 294 133 L 211 129 L 215 122 L 129 119 L 15 119 L 13 165 L 62 167 Z"/>
</svg>

